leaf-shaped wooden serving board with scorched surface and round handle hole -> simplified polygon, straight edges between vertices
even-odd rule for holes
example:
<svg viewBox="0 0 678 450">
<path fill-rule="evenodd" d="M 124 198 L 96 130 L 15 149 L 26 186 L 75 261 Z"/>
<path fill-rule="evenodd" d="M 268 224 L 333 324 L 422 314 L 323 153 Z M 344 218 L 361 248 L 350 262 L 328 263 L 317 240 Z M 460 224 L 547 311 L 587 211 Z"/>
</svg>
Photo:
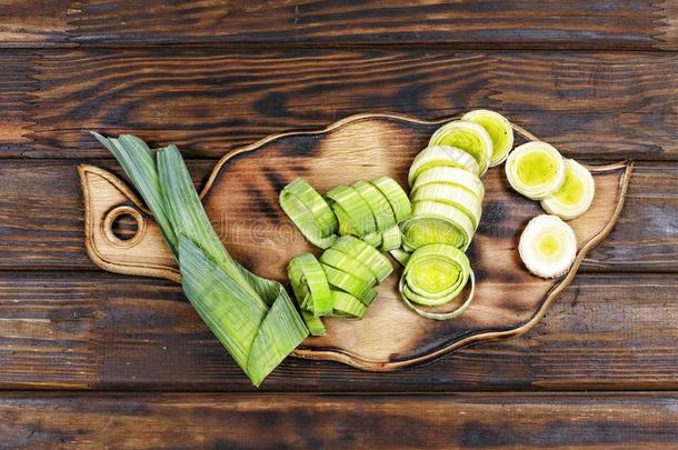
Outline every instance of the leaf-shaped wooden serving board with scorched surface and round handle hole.
<svg viewBox="0 0 678 450">
<path fill-rule="evenodd" d="M 272 136 L 226 154 L 211 172 L 201 198 L 236 259 L 260 276 L 287 282 L 285 269 L 290 258 L 305 251 L 320 254 L 320 250 L 305 241 L 278 206 L 280 189 L 297 177 L 323 192 L 337 184 L 383 174 L 407 187 L 413 157 L 448 120 L 361 114 L 321 131 Z M 515 128 L 522 137 L 536 139 Z M 395 274 L 378 287 L 378 297 L 362 320 L 326 320 L 327 336 L 307 339 L 295 354 L 367 370 L 393 370 L 472 342 L 529 330 L 572 280 L 586 253 L 612 229 L 621 211 L 632 163 L 589 169 L 596 180 L 596 198 L 589 211 L 569 222 L 579 252 L 565 277 L 542 280 L 520 262 L 520 232 L 542 210 L 538 202 L 514 192 L 503 167 L 496 167 L 482 179 L 483 216 L 469 248 L 477 277 L 476 297 L 461 317 L 435 321 L 410 311 L 399 298 L 400 268 L 396 263 Z M 92 260 L 112 272 L 179 281 L 159 228 L 137 196 L 106 170 L 81 166 L 80 177 L 86 243 Z M 138 230 L 131 239 L 121 240 L 112 232 L 113 220 L 120 214 L 131 214 L 137 221 Z"/>
</svg>

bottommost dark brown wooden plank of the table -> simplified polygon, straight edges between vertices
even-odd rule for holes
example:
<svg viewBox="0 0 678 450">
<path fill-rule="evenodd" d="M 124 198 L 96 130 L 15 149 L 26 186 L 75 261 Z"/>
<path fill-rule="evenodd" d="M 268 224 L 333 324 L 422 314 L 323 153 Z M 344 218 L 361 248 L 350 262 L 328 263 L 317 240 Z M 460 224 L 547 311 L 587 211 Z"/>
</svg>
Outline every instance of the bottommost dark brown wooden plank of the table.
<svg viewBox="0 0 678 450">
<path fill-rule="evenodd" d="M 669 449 L 678 396 L 46 394 L 0 398 L 10 448 Z"/>
</svg>

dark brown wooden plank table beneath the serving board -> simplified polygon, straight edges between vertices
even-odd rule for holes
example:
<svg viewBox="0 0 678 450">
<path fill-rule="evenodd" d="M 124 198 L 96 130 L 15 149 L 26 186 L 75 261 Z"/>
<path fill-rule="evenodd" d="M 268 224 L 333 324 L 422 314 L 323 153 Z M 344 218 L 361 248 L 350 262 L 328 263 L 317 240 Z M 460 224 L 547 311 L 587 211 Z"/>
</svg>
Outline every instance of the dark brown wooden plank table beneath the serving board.
<svg viewBox="0 0 678 450">
<path fill-rule="evenodd" d="M 675 448 L 678 0 L 0 2 L 0 447 Z M 528 334 L 395 373 L 289 359 L 255 391 L 166 281 L 83 248 L 86 132 L 227 150 L 357 112 L 491 108 L 637 160 Z"/>
</svg>

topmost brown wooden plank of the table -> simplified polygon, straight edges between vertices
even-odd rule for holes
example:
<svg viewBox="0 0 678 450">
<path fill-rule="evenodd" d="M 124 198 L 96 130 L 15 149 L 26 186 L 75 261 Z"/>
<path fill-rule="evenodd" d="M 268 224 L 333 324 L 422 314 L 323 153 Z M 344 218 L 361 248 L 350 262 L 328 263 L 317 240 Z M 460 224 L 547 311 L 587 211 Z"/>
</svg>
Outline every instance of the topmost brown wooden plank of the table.
<svg viewBox="0 0 678 450">
<path fill-rule="evenodd" d="M 52 4 L 53 3 L 53 4 Z M 674 0 L 3 2 L 4 46 L 436 44 L 675 49 Z"/>
</svg>

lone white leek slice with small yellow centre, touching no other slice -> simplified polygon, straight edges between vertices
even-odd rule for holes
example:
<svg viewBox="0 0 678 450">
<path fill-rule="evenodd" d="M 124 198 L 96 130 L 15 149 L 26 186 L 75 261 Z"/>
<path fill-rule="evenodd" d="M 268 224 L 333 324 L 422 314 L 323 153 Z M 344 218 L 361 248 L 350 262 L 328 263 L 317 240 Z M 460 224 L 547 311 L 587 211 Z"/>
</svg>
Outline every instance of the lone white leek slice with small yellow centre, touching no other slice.
<svg viewBox="0 0 678 450">
<path fill-rule="evenodd" d="M 567 273 L 575 262 L 577 237 L 559 217 L 540 214 L 525 227 L 518 251 L 530 272 L 556 278 Z"/>
</svg>

